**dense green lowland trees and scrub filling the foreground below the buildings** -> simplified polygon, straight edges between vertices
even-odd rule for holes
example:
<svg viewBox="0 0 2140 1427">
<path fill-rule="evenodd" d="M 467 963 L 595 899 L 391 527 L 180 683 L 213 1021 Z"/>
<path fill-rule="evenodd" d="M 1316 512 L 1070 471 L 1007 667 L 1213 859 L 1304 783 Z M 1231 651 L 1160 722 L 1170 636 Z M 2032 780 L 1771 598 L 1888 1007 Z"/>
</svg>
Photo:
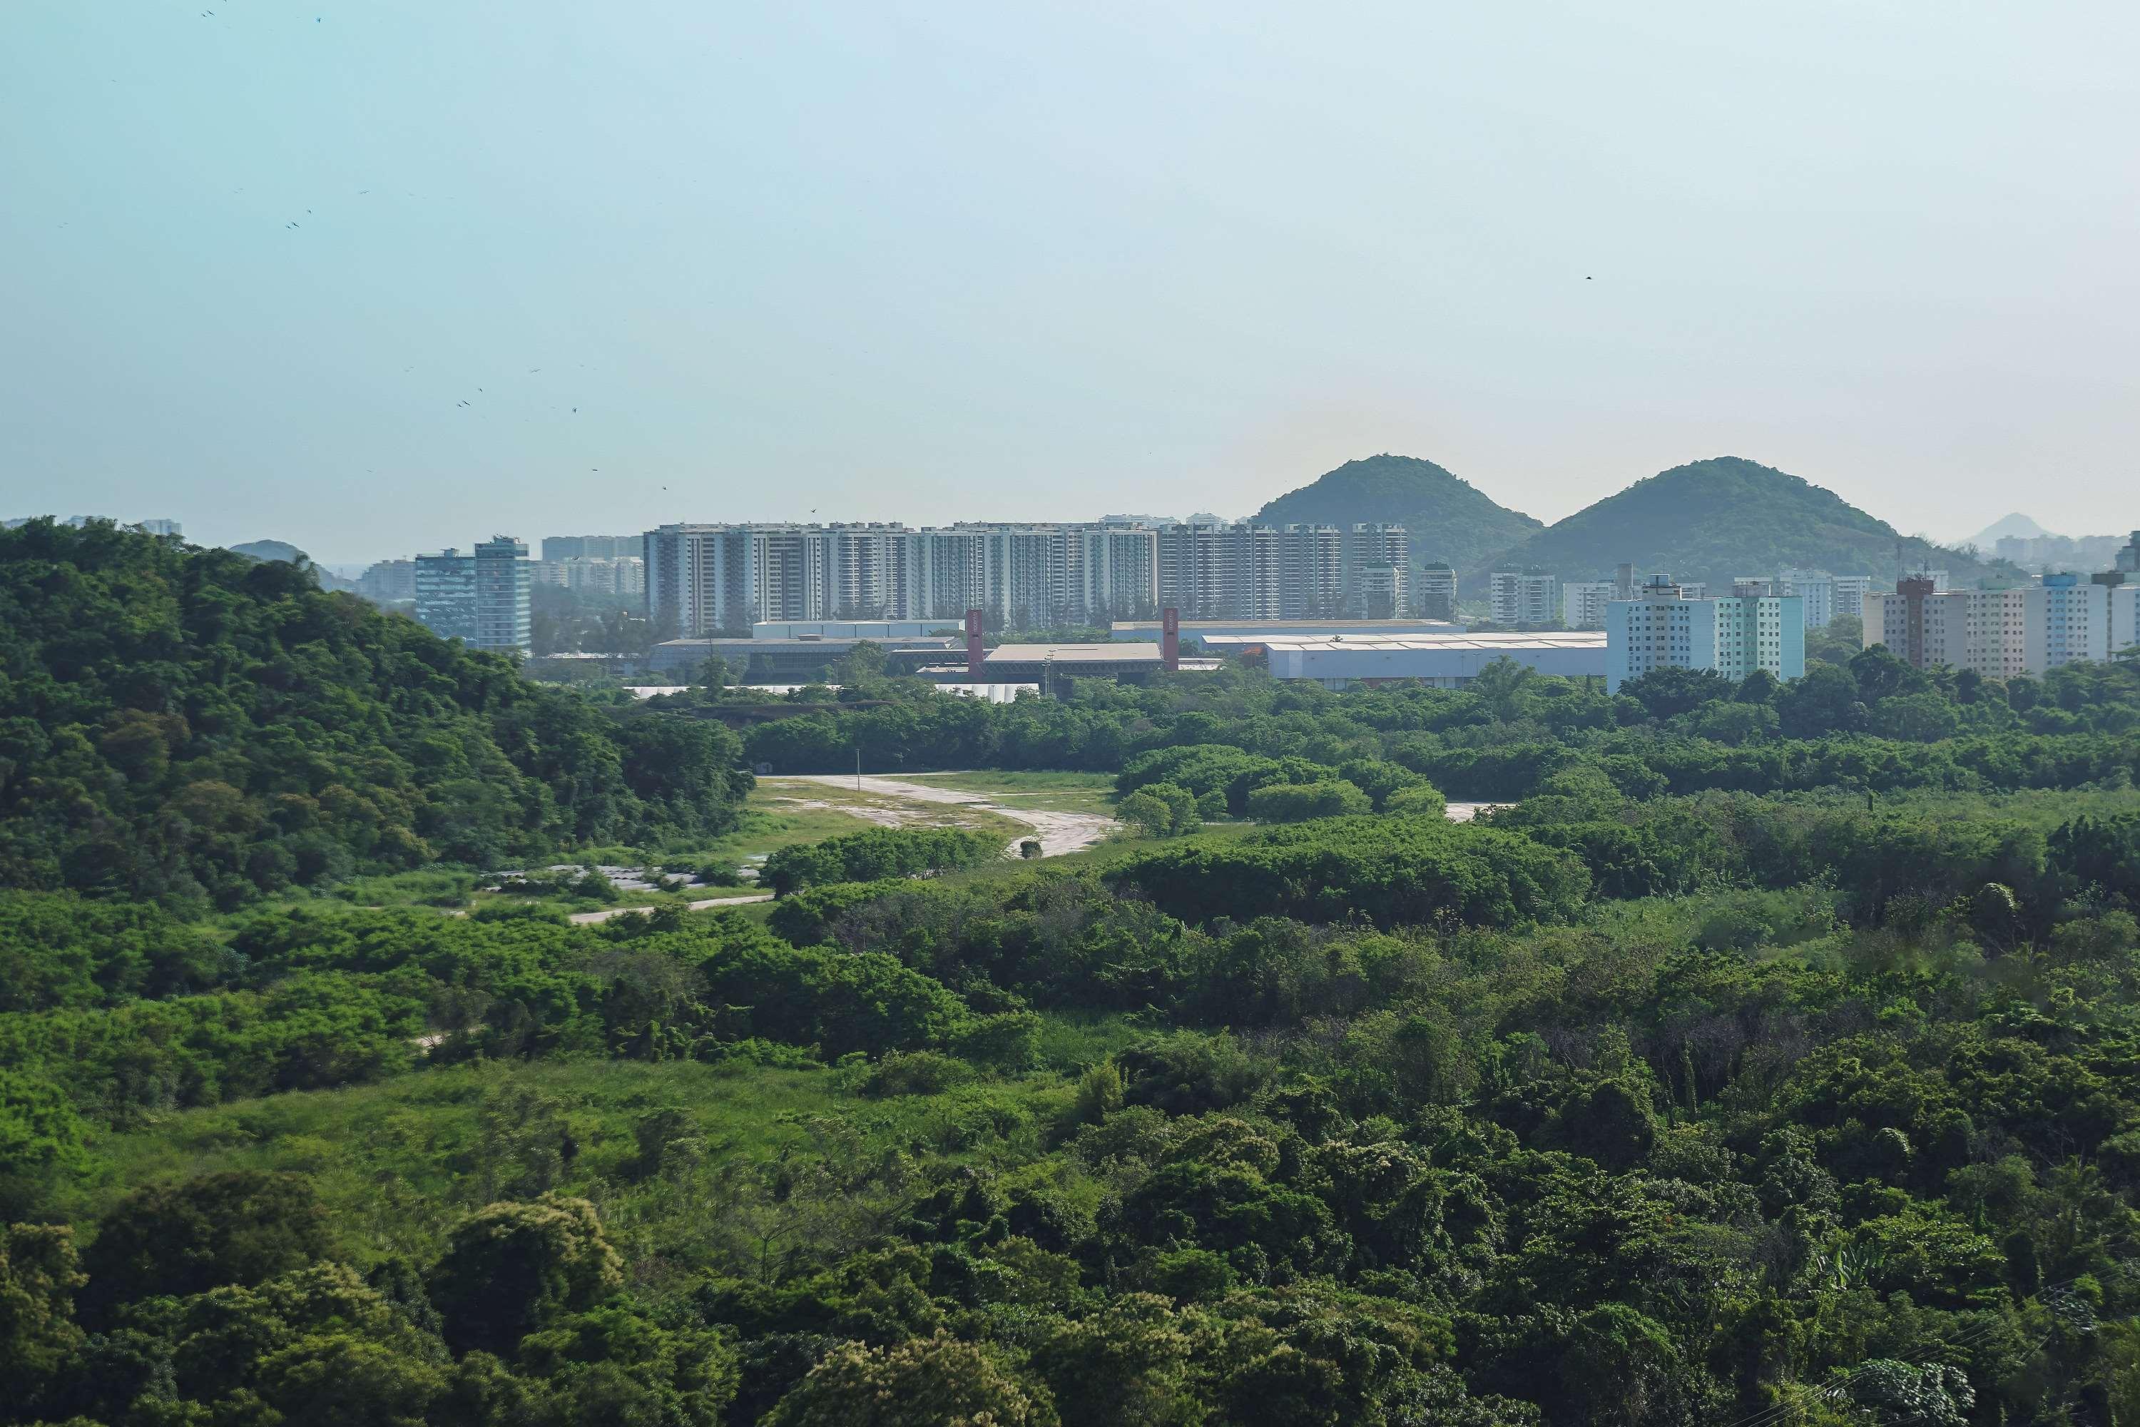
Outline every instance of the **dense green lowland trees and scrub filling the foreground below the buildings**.
<svg viewBox="0 0 2140 1427">
<path fill-rule="evenodd" d="M 862 691 L 1149 837 L 0 892 L 0 1421 L 2140 1421 L 2140 668 Z"/>
</svg>

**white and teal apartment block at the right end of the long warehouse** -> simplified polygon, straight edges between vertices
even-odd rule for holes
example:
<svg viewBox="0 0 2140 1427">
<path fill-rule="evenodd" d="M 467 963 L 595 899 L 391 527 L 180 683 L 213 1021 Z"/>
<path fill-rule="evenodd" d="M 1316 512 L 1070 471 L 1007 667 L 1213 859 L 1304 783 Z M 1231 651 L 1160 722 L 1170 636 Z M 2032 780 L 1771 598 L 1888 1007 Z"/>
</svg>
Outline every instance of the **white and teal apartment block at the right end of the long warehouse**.
<svg viewBox="0 0 2140 1427">
<path fill-rule="evenodd" d="M 1789 680 L 1806 672 L 1806 614 L 1798 595 L 1684 599 L 1652 576 L 1637 599 L 1605 608 L 1605 689 L 1652 670 L 1714 670 L 1740 680 L 1768 670 Z"/>
</svg>

